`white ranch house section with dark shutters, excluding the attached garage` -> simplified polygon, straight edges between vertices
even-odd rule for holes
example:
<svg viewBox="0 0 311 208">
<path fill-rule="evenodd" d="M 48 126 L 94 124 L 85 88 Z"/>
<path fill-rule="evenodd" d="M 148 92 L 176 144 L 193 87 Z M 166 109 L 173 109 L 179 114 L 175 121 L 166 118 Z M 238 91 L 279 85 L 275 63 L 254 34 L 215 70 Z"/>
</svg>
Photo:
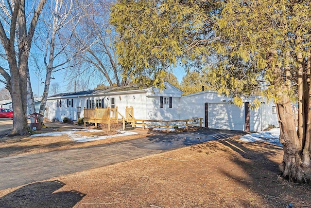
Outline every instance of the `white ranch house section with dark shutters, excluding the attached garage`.
<svg viewBox="0 0 311 208">
<path fill-rule="evenodd" d="M 175 120 L 179 118 L 179 99 L 183 92 L 168 82 L 165 85 L 161 92 L 157 88 L 125 86 L 53 95 L 47 99 L 45 116 L 49 120 L 62 121 L 64 117 L 77 120 L 84 116 L 84 108 L 95 107 L 118 107 L 118 112 L 125 116 L 126 107 L 133 106 L 137 119 Z"/>
</svg>

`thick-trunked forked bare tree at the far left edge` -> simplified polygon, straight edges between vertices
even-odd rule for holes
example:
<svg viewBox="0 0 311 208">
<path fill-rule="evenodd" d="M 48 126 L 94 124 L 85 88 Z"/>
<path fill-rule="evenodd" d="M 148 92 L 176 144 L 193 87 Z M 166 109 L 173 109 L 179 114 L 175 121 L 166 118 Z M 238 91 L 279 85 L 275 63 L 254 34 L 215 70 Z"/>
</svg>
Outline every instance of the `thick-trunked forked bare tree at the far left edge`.
<svg viewBox="0 0 311 208">
<path fill-rule="evenodd" d="M 6 84 L 12 97 L 14 111 L 13 130 L 10 135 L 27 134 L 26 96 L 28 78 L 28 59 L 38 18 L 46 0 L 33 1 L 25 6 L 25 0 L 0 1 L 0 47 L 1 82 Z M 29 14 L 26 14 L 29 11 Z M 29 17 L 29 21 L 27 18 Z M 6 63 L 9 69 L 4 66 Z"/>
</svg>

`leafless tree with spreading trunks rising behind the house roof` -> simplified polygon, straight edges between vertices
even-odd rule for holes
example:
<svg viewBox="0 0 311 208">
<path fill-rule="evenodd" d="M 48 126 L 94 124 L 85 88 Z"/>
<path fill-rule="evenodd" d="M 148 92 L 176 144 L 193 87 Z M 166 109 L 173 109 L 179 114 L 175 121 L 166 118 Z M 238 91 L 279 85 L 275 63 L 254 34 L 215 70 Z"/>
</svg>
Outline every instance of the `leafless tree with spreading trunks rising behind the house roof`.
<svg viewBox="0 0 311 208">
<path fill-rule="evenodd" d="M 69 71 L 71 81 L 79 76 L 87 76 L 96 77 L 96 81 L 106 82 L 109 86 L 126 85 L 113 45 L 116 34 L 108 21 L 110 5 L 111 3 L 100 0 L 85 8 L 87 15 L 81 19 L 81 27 L 74 34 L 75 41 L 72 47 L 81 48 L 85 45 L 89 47 L 84 53 L 74 57 L 73 62 L 77 67 Z"/>
</svg>

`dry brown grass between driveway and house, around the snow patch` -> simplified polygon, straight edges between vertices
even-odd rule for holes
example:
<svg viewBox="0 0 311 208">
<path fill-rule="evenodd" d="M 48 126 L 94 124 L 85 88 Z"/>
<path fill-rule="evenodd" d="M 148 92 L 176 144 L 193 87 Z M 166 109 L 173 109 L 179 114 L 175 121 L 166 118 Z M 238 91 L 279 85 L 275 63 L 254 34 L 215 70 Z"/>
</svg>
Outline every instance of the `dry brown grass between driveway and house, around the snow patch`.
<svg viewBox="0 0 311 208">
<path fill-rule="evenodd" d="M 44 133 L 44 132 L 61 132 L 66 130 L 71 130 L 75 128 L 82 128 L 81 126 L 76 125 L 65 125 L 63 123 L 49 123 L 48 126 L 42 128 L 40 131 L 35 133 Z M 94 128 L 89 127 L 89 128 Z M 78 131 L 77 133 L 86 136 L 90 135 L 112 135 L 116 134 L 117 129 L 103 129 L 103 132 L 83 132 Z M 75 143 L 70 140 L 69 136 L 40 136 L 40 137 L 29 137 L 29 136 L 17 136 L 17 137 L 3 137 L 0 139 L 0 158 L 8 156 L 16 156 L 23 154 L 34 154 L 48 151 L 57 151 L 57 150 L 67 150 L 71 148 L 79 147 L 88 147 L 100 144 L 107 144 L 111 142 L 119 142 L 130 139 L 137 139 L 146 136 L 149 132 L 137 131 L 138 135 L 130 136 L 121 136 L 114 138 L 107 138 L 104 140 L 90 141 L 86 143 Z"/>
</svg>

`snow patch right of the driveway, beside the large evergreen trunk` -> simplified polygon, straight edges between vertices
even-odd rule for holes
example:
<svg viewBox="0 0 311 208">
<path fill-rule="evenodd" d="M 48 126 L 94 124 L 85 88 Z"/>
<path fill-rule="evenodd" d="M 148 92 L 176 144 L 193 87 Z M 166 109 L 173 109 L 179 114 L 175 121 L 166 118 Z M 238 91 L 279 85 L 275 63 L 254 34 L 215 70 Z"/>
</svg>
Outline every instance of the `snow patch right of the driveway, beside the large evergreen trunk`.
<svg viewBox="0 0 311 208">
<path fill-rule="evenodd" d="M 245 142 L 265 141 L 281 147 L 282 144 L 280 143 L 279 135 L 280 129 L 275 128 L 269 131 L 246 134 L 240 139 Z"/>
</svg>

